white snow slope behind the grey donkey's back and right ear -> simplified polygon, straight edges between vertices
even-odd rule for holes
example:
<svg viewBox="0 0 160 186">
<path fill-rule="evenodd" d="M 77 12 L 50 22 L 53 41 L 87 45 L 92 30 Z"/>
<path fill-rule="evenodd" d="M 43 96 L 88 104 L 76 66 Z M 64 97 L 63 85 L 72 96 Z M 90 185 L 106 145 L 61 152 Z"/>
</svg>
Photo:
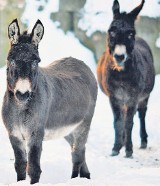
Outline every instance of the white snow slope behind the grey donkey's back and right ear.
<svg viewBox="0 0 160 186">
<path fill-rule="evenodd" d="M 44 25 L 44 36 L 39 45 L 39 53 L 41 57 L 41 66 L 45 66 L 53 60 L 72 56 L 81 60 L 87 61 L 87 64 L 94 63 L 94 56 L 91 51 L 82 46 L 75 36 L 68 32 L 64 35 L 61 29 L 57 29 L 57 23 L 49 19 L 50 12 L 58 9 L 58 1 L 50 0 L 43 12 L 37 12 L 37 4 L 32 4 L 31 0 L 27 1 L 26 11 L 22 16 L 22 21 L 29 25 L 29 32 L 31 32 L 37 19 L 40 19 Z M 51 7 L 56 7 L 53 10 Z M 30 15 L 32 12 L 32 15 Z M 31 17 L 31 18 L 30 18 Z"/>
</svg>

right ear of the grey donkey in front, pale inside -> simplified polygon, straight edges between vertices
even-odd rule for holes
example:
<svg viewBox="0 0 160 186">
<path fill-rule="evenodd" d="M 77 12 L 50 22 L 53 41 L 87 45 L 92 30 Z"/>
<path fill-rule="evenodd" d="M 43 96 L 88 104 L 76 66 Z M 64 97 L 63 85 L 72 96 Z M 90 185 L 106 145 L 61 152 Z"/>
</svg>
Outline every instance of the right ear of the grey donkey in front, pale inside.
<svg viewBox="0 0 160 186">
<path fill-rule="evenodd" d="M 44 34 L 44 26 L 41 21 L 38 19 L 36 24 L 34 25 L 31 33 L 32 42 L 38 46 Z"/>
</svg>

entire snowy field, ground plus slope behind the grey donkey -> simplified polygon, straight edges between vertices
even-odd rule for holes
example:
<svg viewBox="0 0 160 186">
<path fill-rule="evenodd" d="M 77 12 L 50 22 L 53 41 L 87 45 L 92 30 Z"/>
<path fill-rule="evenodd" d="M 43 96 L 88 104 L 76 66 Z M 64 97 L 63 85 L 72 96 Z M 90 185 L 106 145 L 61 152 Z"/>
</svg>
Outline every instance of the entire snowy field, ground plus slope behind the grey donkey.
<svg viewBox="0 0 160 186">
<path fill-rule="evenodd" d="M 30 3 L 32 2 L 32 5 Z M 51 61 L 73 56 L 84 60 L 95 73 L 96 66 L 93 53 L 80 44 L 72 33 L 64 35 L 49 20 L 49 9 L 58 6 L 57 0 L 52 0 L 46 9 L 38 13 L 36 4 L 28 0 L 23 20 L 27 20 L 32 29 L 37 18 L 45 27 L 45 34 L 39 46 L 41 66 Z M 55 11 L 57 9 L 55 8 Z M 29 19 L 32 13 L 34 19 Z M 44 16 L 45 15 L 45 16 Z M 31 17 L 30 16 L 30 17 Z M 0 103 L 2 103 L 6 88 L 5 68 L 0 69 L 1 91 Z M 146 117 L 148 148 L 139 149 L 139 120 L 134 118 L 133 128 L 133 159 L 125 158 L 125 150 L 122 149 L 117 157 L 111 157 L 111 149 L 114 142 L 113 117 L 108 98 L 99 90 L 95 114 L 86 145 L 86 159 L 91 172 L 91 180 L 70 179 L 71 154 L 70 147 L 64 139 L 45 141 L 41 157 L 42 174 L 38 186 L 158 186 L 160 185 L 160 75 L 156 76 L 154 90 L 149 100 Z M 8 113 L 9 114 L 9 113 Z M 26 181 L 16 183 L 14 170 L 14 155 L 8 140 L 6 129 L 0 118 L 0 185 L 28 186 Z"/>
</svg>

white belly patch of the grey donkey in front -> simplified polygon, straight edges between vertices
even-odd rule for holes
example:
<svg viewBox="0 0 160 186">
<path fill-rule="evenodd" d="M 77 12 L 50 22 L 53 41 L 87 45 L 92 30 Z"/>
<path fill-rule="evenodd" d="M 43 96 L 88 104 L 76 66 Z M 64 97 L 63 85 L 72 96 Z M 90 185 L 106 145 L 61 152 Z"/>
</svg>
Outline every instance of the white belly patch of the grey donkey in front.
<svg viewBox="0 0 160 186">
<path fill-rule="evenodd" d="M 66 125 L 63 127 L 59 127 L 59 128 L 53 127 L 51 129 L 45 129 L 43 140 L 46 141 L 50 139 L 63 138 L 69 135 L 71 132 L 73 132 L 81 123 L 82 121 L 75 123 L 75 124 L 70 124 L 70 125 Z"/>
</svg>

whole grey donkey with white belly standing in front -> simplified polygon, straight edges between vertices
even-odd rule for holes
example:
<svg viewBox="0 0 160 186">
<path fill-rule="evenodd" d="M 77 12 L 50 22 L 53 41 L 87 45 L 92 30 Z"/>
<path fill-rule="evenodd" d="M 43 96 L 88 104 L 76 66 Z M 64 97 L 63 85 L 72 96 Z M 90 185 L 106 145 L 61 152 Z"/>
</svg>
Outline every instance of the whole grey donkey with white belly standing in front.
<svg viewBox="0 0 160 186">
<path fill-rule="evenodd" d="M 39 182 L 42 141 L 64 137 L 72 150 L 72 178 L 90 173 L 85 144 L 97 99 L 97 82 L 82 61 L 68 57 L 45 68 L 38 66 L 38 44 L 44 26 L 20 34 L 17 19 L 8 27 L 7 90 L 2 116 L 15 155 L 17 181 Z"/>
</svg>

